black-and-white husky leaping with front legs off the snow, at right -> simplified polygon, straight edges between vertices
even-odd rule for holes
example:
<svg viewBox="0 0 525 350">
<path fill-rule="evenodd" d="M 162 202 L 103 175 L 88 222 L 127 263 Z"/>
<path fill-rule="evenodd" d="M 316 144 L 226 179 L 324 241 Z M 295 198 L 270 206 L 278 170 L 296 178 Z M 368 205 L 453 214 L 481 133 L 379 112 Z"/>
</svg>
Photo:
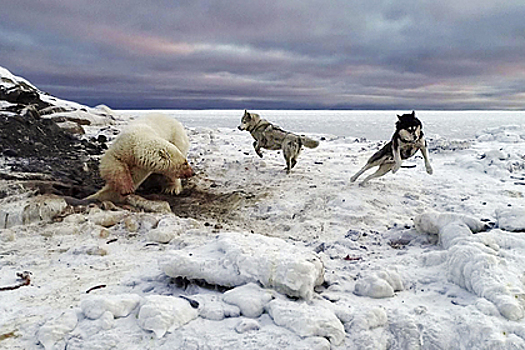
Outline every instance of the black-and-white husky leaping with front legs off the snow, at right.
<svg viewBox="0 0 525 350">
<path fill-rule="evenodd" d="M 357 180 L 361 174 L 370 168 L 379 166 L 375 173 L 368 175 L 361 184 L 365 184 L 371 179 L 380 177 L 392 170 L 393 173 L 399 170 L 404 159 L 412 157 L 417 151 L 421 151 L 425 160 L 425 168 L 428 174 L 432 174 L 432 167 L 428 160 L 427 142 L 423 137 L 423 125 L 416 118 L 416 113 L 397 116 L 396 131 L 392 139 L 383 148 L 374 153 L 352 178 L 351 182 Z"/>
</svg>

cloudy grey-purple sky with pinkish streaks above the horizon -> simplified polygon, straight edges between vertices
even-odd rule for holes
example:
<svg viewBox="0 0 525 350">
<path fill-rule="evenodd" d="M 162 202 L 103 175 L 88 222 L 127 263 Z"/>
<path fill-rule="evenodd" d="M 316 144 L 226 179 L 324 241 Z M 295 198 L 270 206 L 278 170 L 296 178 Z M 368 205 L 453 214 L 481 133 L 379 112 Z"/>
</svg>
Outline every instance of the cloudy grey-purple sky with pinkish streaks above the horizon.
<svg viewBox="0 0 525 350">
<path fill-rule="evenodd" d="M 525 109 L 523 0 L 0 0 L 0 66 L 114 109 Z"/>
</svg>

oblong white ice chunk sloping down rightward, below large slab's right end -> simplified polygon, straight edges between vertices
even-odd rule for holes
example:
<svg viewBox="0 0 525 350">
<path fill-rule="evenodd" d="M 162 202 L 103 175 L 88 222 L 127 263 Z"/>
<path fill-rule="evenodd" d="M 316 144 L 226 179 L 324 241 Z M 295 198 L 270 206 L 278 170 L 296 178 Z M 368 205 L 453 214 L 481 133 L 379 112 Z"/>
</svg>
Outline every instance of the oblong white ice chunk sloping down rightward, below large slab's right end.
<svg viewBox="0 0 525 350">
<path fill-rule="evenodd" d="M 340 345 L 344 341 L 343 324 L 320 302 L 275 299 L 268 303 L 267 309 L 275 324 L 301 337 L 325 337 L 334 345 Z"/>
</svg>

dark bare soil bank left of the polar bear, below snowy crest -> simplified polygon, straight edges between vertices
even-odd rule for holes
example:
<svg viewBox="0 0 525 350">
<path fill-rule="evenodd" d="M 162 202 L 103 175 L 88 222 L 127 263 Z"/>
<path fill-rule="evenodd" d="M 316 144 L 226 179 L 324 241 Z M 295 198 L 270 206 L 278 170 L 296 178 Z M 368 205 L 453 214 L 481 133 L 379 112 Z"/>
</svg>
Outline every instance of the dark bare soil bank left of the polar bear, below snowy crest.
<svg viewBox="0 0 525 350">
<path fill-rule="evenodd" d="M 98 160 L 105 140 L 82 140 L 61 129 L 50 119 L 35 114 L 0 112 L 0 153 L 6 159 L 9 172 L 0 173 L 1 179 L 47 179 L 63 183 L 73 197 L 100 188 L 103 180 L 98 175 Z M 82 190 L 86 188 L 86 190 Z M 66 191 L 66 192 L 68 192 Z"/>
</svg>

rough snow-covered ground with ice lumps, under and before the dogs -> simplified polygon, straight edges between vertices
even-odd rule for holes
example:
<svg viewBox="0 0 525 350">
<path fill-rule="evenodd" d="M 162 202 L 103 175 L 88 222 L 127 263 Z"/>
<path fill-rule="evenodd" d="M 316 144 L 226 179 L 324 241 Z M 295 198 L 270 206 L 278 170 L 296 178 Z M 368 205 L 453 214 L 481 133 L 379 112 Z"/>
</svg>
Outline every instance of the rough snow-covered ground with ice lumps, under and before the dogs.
<svg viewBox="0 0 525 350">
<path fill-rule="evenodd" d="M 525 127 L 425 124 L 433 175 L 359 186 L 358 130 L 286 175 L 236 125 L 188 126 L 193 218 L 0 202 L 0 348 L 525 349 Z"/>
</svg>

